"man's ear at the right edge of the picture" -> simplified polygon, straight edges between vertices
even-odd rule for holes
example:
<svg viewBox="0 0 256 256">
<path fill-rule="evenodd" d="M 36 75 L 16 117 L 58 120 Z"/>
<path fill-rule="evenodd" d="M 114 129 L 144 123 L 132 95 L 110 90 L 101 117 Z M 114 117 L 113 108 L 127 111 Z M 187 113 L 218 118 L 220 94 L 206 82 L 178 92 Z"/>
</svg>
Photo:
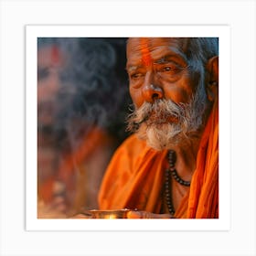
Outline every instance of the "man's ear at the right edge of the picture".
<svg viewBox="0 0 256 256">
<path fill-rule="evenodd" d="M 219 89 L 219 57 L 215 56 L 208 60 L 207 63 L 207 94 L 208 100 L 214 101 L 218 97 Z"/>
</svg>

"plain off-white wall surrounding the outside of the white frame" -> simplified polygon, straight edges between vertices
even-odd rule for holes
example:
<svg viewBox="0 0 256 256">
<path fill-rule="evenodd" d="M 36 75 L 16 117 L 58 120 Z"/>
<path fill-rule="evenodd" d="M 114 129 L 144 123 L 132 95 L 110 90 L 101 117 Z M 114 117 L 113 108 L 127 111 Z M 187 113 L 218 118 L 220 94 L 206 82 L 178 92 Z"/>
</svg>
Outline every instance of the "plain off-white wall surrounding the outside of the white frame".
<svg viewBox="0 0 256 256">
<path fill-rule="evenodd" d="M 1 0 L 0 14 L 1 256 L 256 255 L 254 0 Z M 25 26 L 153 23 L 230 27 L 229 231 L 27 231 Z"/>
</svg>

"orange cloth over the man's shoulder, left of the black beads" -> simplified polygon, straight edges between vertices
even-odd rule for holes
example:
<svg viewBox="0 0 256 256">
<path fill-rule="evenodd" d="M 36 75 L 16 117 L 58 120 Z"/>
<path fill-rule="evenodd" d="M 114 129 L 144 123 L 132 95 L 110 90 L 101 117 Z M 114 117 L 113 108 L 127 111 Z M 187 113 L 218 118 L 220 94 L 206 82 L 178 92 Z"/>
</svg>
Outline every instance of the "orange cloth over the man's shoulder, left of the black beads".
<svg viewBox="0 0 256 256">
<path fill-rule="evenodd" d="M 101 183 L 101 209 L 138 208 L 158 212 L 167 152 L 157 152 L 133 134 L 114 154 Z"/>
</svg>

